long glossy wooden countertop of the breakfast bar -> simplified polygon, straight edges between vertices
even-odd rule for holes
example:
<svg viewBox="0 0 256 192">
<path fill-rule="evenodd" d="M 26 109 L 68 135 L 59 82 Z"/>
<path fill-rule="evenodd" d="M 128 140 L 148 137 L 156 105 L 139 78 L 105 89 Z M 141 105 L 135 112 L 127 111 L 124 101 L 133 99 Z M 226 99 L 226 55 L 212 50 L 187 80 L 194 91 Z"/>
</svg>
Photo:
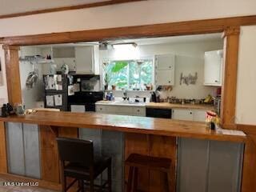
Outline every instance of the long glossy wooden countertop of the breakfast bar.
<svg viewBox="0 0 256 192">
<path fill-rule="evenodd" d="M 203 122 L 178 121 L 165 118 L 146 118 L 117 114 L 71 113 L 37 111 L 25 116 L 0 118 L 2 122 L 24 122 L 45 126 L 95 128 L 137 134 L 155 134 L 184 138 L 245 142 L 246 136 L 219 134 Z"/>
</svg>

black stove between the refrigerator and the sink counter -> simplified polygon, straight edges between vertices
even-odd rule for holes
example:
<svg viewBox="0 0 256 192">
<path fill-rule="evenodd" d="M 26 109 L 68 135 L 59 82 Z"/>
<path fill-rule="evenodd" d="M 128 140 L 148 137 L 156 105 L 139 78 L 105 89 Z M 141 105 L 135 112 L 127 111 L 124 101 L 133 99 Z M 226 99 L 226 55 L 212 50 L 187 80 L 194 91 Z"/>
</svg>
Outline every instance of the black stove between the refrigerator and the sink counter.
<svg viewBox="0 0 256 192">
<path fill-rule="evenodd" d="M 96 111 L 95 102 L 103 99 L 103 91 L 81 91 L 69 97 L 69 110 L 71 106 L 84 106 L 85 111 Z"/>
</svg>

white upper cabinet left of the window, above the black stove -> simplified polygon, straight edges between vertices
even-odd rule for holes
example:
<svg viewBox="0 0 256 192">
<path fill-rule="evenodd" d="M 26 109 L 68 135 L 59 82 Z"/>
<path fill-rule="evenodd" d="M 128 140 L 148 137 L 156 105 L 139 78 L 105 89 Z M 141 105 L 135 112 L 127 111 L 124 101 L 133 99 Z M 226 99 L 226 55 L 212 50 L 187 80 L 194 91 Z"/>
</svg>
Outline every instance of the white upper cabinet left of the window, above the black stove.
<svg viewBox="0 0 256 192">
<path fill-rule="evenodd" d="M 77 74 L 99 74 L 98 46 L 75 47 Z"/>
</svg>

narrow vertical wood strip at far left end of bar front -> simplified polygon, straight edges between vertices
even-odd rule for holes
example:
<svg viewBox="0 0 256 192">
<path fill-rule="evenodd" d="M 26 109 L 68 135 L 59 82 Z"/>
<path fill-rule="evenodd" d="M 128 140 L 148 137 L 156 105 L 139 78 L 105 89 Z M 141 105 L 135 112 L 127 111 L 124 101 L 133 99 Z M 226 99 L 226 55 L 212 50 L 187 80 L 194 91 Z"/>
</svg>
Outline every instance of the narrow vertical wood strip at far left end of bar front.
<svg viewBox="0 0 256 192">
<path fill-rule="evenodd" d="M 0 141 L 0 173 L 6 174 L 8 166 L 6 154 L 6 128 L 4 122 L 0 122 Z"/>
</svg>

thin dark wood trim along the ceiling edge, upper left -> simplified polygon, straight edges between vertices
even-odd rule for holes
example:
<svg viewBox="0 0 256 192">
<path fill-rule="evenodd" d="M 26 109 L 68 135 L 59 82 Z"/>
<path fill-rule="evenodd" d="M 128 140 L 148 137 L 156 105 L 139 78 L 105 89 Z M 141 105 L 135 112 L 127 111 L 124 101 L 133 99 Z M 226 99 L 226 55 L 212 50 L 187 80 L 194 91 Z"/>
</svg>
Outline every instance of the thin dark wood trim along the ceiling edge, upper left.
<svg viewBox="0 0 256 192">
<path fill-rule="evenodd" d="M 45 9 L 45 10 L 31 10 L 31 11 L 15 13 L 15 14 L 2 14 L 0 15 L 0 19 L 16 18 L 16 17 L 22 17 L 22 16 L 31 15 L 31 14 L 46 14 L 46 13 L 52 13 L 52 12 L 58 12 L 58 11 L 64 11 L 64 10 L 81 10 L 81 9 L 97 7 L 97 6 L 110 6 L 110 5 L 120 4 L 124 2 L 141 2 L 141 1 L 147 1 L 147 0 L 110 0 L 107 2 L 86 3 L 78 6 L 62 6 L 57 8 Z"/>
</svg>

